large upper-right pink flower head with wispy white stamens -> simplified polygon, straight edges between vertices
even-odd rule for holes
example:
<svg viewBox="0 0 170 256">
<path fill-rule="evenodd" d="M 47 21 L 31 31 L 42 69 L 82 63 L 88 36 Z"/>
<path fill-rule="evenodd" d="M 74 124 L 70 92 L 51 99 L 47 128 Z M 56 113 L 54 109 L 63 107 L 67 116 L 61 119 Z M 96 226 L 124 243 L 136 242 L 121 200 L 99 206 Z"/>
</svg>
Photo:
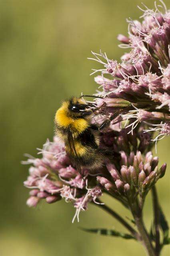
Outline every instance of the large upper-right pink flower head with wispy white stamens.
<svg viewBox="0 0 170 256">
<path fill-rule="evenodd" d="M 104 111 L 110 115 L 115 108 L 122 110 L 121 120 L 126 120 L 126 125 L 130 120 L 131 132 L 144 122 L 146 132 L 158 132 L 156 141 L 170 134 L 170 10 L 160 2 L 162 9 L 155 4 L 156 10 L 143 4 L 142 22 L 127 20 L 128 37 L 119 34 L 118 40 L 119 46 L 130 52 L 121 57 L 121 63 L 101 51 L 92 52 L 94 58 L 89 58 L 104 65 L 92 72 L 102 73 L 95 81 L 103 90 L 95 95 L 104 99 L 97 99 L 96 104 L 106 102 Z"/>
</svg>

